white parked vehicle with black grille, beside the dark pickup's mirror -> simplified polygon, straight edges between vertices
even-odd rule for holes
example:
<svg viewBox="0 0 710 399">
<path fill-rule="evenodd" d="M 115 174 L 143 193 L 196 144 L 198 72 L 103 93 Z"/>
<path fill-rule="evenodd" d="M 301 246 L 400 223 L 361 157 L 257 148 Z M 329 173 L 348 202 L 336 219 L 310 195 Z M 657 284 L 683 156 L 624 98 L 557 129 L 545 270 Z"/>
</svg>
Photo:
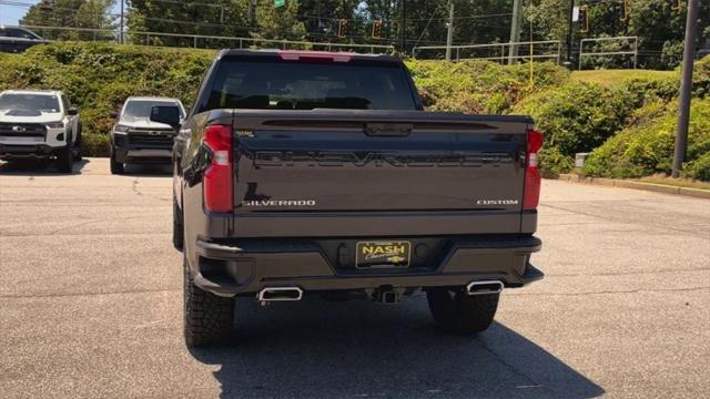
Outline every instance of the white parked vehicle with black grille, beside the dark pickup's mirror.
<svg viewBox="0 0 710 399">
<path fill-rule="evenodd" d="M 172 106 L 182 120 L 185 109 L 178 99 L 131 96 L 125 100 L 111 130 L 111 173 L 121 174 L 125 164 L 165 163 L 173 154 L 175 130 L 150 120 L 153 106 Z"/>
</svg>

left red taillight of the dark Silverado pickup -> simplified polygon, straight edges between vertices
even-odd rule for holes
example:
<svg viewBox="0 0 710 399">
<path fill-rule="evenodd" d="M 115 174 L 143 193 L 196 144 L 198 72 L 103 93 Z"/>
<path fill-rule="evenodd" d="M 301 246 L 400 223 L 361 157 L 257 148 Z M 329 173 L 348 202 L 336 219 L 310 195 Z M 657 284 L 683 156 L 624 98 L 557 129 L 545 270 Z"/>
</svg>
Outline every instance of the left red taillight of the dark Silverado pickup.
<svg viewBox="0 0 710 399">
<path fill-rule="evenodd" d="M 212 162 L 204 170 L 202 190 L 205 211 L 232 212 L 232 126 L 210 125 L 204 131 L 204 145 L 212 153 Z"/>
</svg>

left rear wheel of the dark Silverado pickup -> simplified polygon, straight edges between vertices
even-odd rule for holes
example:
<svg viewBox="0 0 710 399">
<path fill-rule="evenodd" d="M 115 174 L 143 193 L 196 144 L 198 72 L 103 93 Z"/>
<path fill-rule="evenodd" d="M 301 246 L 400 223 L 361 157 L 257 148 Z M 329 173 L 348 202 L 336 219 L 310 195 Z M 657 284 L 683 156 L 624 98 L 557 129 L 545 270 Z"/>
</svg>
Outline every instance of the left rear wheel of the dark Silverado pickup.
<svg viewBox="0 0 710 399">
<path fill-rule="evenodd" d="M 226 341 L 234 323 L 234 298 L 220 297 L 195 286 L 186 259 L 183 269 L 185 342 L 200 347 Z"/>
</svg>

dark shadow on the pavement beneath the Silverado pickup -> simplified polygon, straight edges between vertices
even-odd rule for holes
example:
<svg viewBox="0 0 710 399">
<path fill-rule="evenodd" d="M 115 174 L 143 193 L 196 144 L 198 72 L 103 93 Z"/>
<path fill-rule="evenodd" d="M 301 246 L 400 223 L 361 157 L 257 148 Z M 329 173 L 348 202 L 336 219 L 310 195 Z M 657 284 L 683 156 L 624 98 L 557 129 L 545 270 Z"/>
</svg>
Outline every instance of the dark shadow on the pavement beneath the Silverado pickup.
<svg viewBox="0 0 710 399">
<path fill-rule="evenodd" d="M 505 306 L 505 304 L 503 305 Z M 232 347 L 191 349 L 221 366 L 222 398 L 564 397 L 604 390 L 500 324 L 473 337 L 434 326 L 424 296 L 399 306 L 305 298 L 237 303 Z"/>
</svg>

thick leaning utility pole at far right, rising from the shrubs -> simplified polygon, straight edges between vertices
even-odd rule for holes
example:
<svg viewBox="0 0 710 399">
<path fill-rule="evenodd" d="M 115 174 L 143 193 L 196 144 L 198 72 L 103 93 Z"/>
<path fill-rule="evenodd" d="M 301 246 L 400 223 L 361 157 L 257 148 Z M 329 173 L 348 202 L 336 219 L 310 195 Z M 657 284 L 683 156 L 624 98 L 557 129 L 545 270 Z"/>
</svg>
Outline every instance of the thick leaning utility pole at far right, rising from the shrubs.
<svg viewBox="0 0 710 399">
<path fill-rule="evenodd" d="M 696 33 L 698 30 L 698 0 L 688 0 L 686 18 L 686 43 L 683 48 L 683 66 L 680 76 L 680 105 L 678 106 L 678 125 L 676 127 L 676 151 L 671 176 L 680 177 L 688 147 L 688 122 L 690 120 L 690 91 L 692 89 L 692 64 L 696 57 Z"/>
</svg>

